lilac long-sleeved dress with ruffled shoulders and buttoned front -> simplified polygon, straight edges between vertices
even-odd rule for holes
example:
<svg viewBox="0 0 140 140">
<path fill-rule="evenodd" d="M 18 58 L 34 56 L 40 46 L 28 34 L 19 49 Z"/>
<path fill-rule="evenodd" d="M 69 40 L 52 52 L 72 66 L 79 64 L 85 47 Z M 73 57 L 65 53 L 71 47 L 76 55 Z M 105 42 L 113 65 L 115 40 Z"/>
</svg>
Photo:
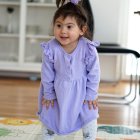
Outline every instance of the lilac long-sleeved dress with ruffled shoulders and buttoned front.
<svg viewBox="0 0 140 140">
<path fill-rule="evenodd" d="M 98 109 L 89 110 L 84 100 L 95 100 L 100 81 L 98 42 L 81 37 L 68 54 L 56 39 L 41 43 L 43 48 L 39 119 L 56 134 L 79 130 L 97 119 Z M 54 100 L 54 107 L 41 104 L 42 97 Z"/>
</svg>

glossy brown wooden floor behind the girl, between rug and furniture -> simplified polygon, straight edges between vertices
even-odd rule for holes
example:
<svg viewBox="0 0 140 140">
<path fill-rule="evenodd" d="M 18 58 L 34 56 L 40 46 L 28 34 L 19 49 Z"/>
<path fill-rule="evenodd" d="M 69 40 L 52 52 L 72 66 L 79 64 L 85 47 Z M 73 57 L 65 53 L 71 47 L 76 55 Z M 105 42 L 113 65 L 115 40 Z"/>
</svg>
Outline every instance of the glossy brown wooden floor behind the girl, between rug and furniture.
<svg viewBox="0 0 140 140">
<path fill-rule="evenodd" d="M 127 83 L 100 84 L 100 92 L 124 94 Z M 0 117 L 37 118 L 39 80 L 0 78 Z M 100 100 L 100 99 L 99 99 Z M 99 103 L 100 124 L 140 126 L 140 99 L 131 105 Z"/>
</svg>

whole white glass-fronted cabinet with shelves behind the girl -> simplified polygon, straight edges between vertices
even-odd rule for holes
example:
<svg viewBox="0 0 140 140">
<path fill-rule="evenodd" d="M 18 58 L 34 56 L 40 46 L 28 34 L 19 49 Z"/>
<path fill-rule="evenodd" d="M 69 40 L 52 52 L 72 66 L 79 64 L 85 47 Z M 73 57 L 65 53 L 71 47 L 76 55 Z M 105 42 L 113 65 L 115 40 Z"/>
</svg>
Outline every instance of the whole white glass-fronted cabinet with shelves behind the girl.
<svg viewBox="0 0 140 140">
<path fill-rule="evenodd" d="M 55 11 L 54 0 L 0 0 L 0 71 L 40 72 Z"/>
</svg>

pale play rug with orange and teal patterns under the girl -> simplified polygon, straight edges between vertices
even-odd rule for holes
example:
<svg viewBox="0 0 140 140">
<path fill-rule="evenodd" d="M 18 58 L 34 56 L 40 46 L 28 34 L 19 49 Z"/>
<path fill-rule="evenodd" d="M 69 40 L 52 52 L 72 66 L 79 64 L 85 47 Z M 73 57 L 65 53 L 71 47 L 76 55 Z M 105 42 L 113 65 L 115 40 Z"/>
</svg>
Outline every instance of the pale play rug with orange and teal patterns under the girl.
<svg viewBox="0 0 140 140">
<path fill-rule="evenodd" d="M 33 119 L 0 118 L 0 140 L 41 140 L 41 123 Z M 56 136 L 55 140 L 82 140 L 82 132 Z M 140 128 L 100 124 L 96 140 L 140 140 Z"/>
</svg>

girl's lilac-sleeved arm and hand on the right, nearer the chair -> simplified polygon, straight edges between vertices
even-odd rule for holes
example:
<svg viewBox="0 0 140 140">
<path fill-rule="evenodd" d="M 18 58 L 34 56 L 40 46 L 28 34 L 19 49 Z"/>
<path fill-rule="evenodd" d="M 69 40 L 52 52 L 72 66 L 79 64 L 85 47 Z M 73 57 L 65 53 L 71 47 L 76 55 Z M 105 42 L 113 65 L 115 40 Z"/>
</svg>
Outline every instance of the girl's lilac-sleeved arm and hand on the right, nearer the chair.
<svg viewBox="0 0 140 140">
<path fill-rule="evenodd" d="M 98 87 L 100 82 L 100 65 L 99 57 L 95 46 L 90 46 L 87 63 L 87 92 L 85 101 L 88 103 L 89 109 L 96 109 L 98 106 Z"/>
</svg>

